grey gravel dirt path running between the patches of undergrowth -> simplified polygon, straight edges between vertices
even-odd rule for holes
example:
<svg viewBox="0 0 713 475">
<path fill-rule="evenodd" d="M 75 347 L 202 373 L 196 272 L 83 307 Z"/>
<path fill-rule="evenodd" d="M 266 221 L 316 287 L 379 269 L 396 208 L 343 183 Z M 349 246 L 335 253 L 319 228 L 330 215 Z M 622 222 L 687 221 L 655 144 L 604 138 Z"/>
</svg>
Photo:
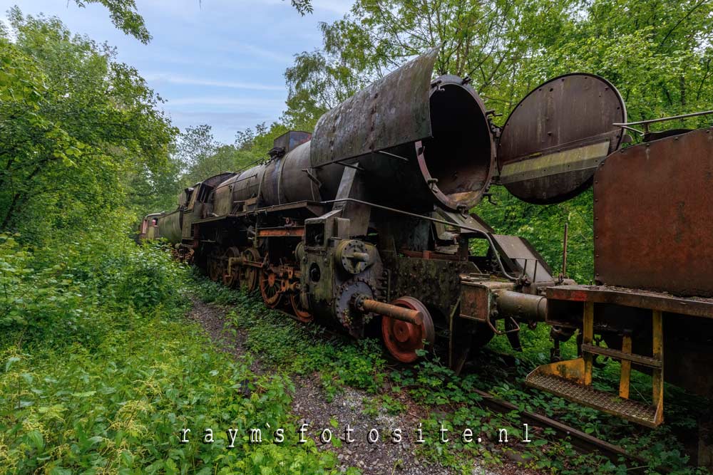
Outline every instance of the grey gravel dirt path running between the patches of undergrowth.
<svg viewBox="0 0 713 475">
<path fill-rule="evenodd" d="M 242 330 L 227 330 L 225 327 L 224 315 L 227 310 L 219 306 L 212 306 L 194 301 L 193 310 L 189 318 L 200 323 L 210 338 L 221 350 L 235 355 L 243 355 L 245 349 L 245 334 Z M 256 373 L 262 372 L 260 362 L 256 359 L 252 370 Z M 292 400 L 292 412 L 298 418 L 298 424 L 308 424 L 307 436 L 312 437 L 317 443 L 317 447 L 328 449 L 337 454 L 340 461 L 340 468 L 345 471 L 349 466 L 356 466 L 361 469 L 364 475 L 451 475 L 459 472 L 423 461 L 415 455 L 416 428 L 419 425 L 417 414 L 390 415 L 381 412 L 375 415 L 364 413 L 369 402 L 374 396 L 366 392 L 345 387 L 337 393 L 331 402 L 327 402 L 327 395 L 322 389 L 317 375 L 312 377 L 301 377 L 293 380 L 295 394 Z M 375 403 L 376 404 L 376 403 Z M 378 407 L 378 404 L 376 404 Z M 334 427 L 333 422 L 337 422 Z M 349 439 L 354 442 L 347 443 L 347 424 L 353 432 L 349 432 Z M 395 428 L 401 429 L 402 441 L 393 442 L 392 431 Z M 341 447 L 334 447 L 333 444 L 323 444 L 320 440 L 322 431 L 329 429 L 332 438 L 337 437 L 342 440 Z M 376 438 L 376 442 L 369 441 Z M 324 434 L 328 437 L 328 434 Z M 440 437 L 440 434 L 426 434 L 424 437 Z M 506 463 L 503 466 L 488 467 L 487 469 L 473 461 L 471 473 L 473 475 L 503 475 L 503 474 L 523 474 L 534 473 L 523 470 L 514 463 Z"/>
</svg>

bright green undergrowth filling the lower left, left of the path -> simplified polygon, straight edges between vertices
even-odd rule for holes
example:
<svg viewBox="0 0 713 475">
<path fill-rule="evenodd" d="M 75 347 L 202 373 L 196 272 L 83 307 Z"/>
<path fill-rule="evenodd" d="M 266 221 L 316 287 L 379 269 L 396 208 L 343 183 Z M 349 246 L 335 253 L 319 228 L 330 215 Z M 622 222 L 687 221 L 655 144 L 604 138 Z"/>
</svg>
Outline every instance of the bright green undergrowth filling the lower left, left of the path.
<svg viewBox="0 0 713 475">
<path fill-rule="evenodd" d="M 128 238 L 0 237 L 1 473 L 336 470 L 334 454 L 297 443 L 288 378 L 255 375 L 188 323 L 189 282 L 168 252 Z M 252 428 L 267 441 L 251 443 Z"/>
</svg>

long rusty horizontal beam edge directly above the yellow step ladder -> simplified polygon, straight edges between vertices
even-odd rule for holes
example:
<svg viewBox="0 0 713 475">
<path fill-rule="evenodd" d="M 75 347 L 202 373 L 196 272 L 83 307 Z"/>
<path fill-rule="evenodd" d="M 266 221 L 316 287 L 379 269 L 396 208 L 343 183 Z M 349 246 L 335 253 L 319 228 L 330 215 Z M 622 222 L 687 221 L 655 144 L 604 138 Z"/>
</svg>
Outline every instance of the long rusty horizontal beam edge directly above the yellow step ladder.
<svg viewBox="0 0 713 475">
<path fill-rule="evenodd" d="M 610 286 L 555 286 L 546 291 L 548 303 L 554 301 L 612 303 L 615 305 L 661 310 L 696 317 L 713 318 L 713 299 L 680 298 L 668 293 Z"/>
</svg>

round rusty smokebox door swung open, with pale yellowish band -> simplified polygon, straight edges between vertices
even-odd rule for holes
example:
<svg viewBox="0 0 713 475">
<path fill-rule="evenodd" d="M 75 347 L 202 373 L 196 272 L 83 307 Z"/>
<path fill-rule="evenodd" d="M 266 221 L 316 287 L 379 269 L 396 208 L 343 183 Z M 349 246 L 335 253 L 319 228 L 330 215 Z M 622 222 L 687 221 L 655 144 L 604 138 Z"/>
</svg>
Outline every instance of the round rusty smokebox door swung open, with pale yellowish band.
<svg viewBox="0 0 713 475">
<path fill-rule="evenodd" d="M 515 107 L 498 145 L 500 182 L 525 202 L 552 204 L 591 184 L 617 150 L 626 121 L 619 91 L 590 74 L 570 74 L 535 88 Z"/>
</svg>

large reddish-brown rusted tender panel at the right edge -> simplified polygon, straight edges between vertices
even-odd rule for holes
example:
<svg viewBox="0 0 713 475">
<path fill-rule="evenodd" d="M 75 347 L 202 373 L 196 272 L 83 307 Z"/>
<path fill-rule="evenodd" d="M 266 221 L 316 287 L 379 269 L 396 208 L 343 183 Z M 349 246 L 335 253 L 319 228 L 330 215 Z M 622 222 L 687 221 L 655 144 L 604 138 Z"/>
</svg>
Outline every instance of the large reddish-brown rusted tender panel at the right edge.
<svg viewBox="0 0 713 475">
<path fill-rule="evenodd" d="M 595 174 L 595 280 L 713 296 L 713 132 L 616 152 Z"/>
</svg>

